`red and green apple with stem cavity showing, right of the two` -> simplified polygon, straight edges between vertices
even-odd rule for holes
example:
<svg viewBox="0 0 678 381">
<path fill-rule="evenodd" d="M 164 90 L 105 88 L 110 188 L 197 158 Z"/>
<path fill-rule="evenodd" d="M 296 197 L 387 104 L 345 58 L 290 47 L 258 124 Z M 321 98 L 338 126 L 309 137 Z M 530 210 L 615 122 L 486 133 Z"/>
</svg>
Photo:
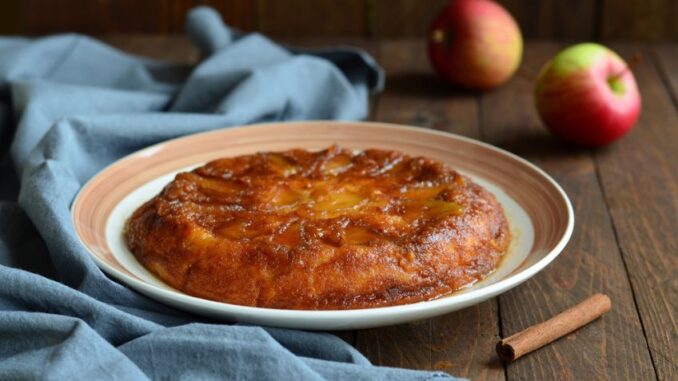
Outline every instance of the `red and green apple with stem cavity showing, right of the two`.
<svg viewBox="0 0 678 381">
<path fill-rule="evenodd" d="M 534 93 L 546 127 L 586 147 L 619 139 L 640 113 L 633 73 L 621 57 L 599 44 L 578 44 L 558 53 L 542 69 Z"/>
</svg>

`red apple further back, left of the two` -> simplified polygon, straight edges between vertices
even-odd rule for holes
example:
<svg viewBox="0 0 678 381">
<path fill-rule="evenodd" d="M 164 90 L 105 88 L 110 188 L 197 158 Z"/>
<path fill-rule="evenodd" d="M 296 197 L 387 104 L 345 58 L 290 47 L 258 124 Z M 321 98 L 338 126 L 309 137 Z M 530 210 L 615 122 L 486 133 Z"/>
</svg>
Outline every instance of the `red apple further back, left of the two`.
<svg viewBox="0 0 678 381">
<path fill-rule="evenodd" d="M 455 0 L 438 15 L 428 37 L 429 58 L 449 82 L 485 90 L 511 78 L 523 54 L 520 28 L 490 0 Z"/>
</svg>

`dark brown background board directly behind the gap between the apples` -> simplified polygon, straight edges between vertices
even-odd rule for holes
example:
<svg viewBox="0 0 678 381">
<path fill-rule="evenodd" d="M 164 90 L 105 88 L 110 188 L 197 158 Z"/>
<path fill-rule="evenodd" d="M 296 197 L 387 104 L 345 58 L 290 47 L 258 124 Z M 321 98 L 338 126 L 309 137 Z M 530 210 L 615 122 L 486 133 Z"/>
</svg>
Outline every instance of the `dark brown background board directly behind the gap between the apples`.
<svg viewBox="0 0 678 381">
<path fill-rule="evenodd" d="M 499 0 L 516 18 L 525 38 L 585 39 L 595 37 L 596 7 L 602 0 Z"/>
</svg>

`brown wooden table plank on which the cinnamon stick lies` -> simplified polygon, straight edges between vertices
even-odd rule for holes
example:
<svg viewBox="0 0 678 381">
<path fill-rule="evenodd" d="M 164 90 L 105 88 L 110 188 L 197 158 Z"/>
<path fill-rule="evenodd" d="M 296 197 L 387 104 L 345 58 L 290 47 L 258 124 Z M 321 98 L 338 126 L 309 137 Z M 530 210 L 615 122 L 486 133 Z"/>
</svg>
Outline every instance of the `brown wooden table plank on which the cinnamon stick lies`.
<svg viewBox="0 0 678 381">
<path fill-rule="evenodd" d="M 654 369 L 591 154 L 552 138 L 534 109 L 534 78 L 558 48 L 528 45 L 520 75 L 481 99 L 485 140 L 550 173 L 576 214 L 574 235 L 560 257 L 500 296 L 502 334 L 543 321 L 596 292 L 609 295 L 613 307 L 602 319 L 509 364 L 507 378 L 651 380 Z"/>
</svg>

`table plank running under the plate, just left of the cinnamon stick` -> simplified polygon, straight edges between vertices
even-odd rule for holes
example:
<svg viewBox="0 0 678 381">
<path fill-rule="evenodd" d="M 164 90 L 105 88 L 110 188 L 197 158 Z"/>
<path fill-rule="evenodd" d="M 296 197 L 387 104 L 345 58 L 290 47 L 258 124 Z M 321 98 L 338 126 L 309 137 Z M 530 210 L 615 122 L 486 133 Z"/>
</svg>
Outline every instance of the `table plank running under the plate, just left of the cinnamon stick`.
<svg viewBox="0 0 678 381">
<path fill-rule="evenodd" d="M 429 69 L 420 40 L 383 42 L 378 58 L 388 80 L 377 120 L 478 137 L 474 94 L 442 83 Z M 378 365 L 438 369 L 474 380 L 503 380 L 495 360 L 496 300 L 434 319 L 358 331 L 356 346 Z"/>
</svg>

